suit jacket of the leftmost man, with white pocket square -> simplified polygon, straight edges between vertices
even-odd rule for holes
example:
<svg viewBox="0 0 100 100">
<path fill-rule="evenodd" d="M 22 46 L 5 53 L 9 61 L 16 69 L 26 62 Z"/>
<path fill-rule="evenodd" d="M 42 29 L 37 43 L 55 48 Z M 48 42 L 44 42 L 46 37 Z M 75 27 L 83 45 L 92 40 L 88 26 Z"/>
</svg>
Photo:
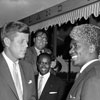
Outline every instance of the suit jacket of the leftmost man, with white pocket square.
<svg viewBox="0 0 100 100">
<path fill-rule="evenodd" d="M 36 100 L 35 80 L 31 66 L 25 61 L 20 61 L 19 66 L 23 84 L 23 100 Z M 19 100 L 10 70 L 2 54 L 0 54 L 0 100 Z"/>
</svg>

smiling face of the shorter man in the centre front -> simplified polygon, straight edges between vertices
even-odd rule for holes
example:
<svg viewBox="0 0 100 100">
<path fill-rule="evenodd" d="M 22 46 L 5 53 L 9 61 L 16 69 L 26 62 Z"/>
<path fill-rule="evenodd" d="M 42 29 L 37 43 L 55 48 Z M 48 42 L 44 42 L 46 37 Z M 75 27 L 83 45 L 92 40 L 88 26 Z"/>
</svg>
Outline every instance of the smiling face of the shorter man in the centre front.
<svg viewBox="0 0 100 100">
<path fill-rule="evenodd" d="M 45 75 L 50 71 L 50 59 L 48 57 L 40 57 L 38 61 L 38 70 L 41 75 Z"/>
</svg>

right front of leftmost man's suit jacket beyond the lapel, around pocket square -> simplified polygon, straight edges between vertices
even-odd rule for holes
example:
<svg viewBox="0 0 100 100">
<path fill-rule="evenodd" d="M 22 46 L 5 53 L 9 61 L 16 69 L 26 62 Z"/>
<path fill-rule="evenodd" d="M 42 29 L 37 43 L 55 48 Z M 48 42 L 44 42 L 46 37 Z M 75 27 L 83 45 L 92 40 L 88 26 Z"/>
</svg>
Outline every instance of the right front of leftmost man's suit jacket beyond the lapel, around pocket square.
<svg viewBox="0 0 100 100">
<path fill-rule="evenodd" d="M 24 60 L 21 60 L 21 67 L 23 69 L 25 81 L 26 81 L 26 91 L 28 100 L 36 100 L 36 86 L 35 77 L 32 65 Z M 31 83 L 29 81 L 31 80 Z"/>
</svg>

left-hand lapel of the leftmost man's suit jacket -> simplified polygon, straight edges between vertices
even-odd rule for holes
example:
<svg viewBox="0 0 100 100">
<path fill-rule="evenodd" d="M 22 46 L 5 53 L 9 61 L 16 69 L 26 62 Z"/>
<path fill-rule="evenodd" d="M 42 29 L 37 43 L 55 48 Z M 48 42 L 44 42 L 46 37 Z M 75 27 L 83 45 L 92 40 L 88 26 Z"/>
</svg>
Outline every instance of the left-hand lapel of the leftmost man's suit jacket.
<svg viewBox="0 0 100 100">
<path fill-rule="evenodd" d="M 3 80 L 5 81 L 5 83 L 8 84 L 8 86 L 10 87 L 12 92 L 18 98 L 17 91 L 16 91 L 16 88 L 15 88 L 15 85 L 14 85 L 10 70 L 9 70 L 8 65 L 7 65 L 5 59 L 3 58 L 2 55 L 0 55 L 0 64 L 1 64 L 1 66 L 0 66 L 1 77 L 3 77 Z"/>
</svg>

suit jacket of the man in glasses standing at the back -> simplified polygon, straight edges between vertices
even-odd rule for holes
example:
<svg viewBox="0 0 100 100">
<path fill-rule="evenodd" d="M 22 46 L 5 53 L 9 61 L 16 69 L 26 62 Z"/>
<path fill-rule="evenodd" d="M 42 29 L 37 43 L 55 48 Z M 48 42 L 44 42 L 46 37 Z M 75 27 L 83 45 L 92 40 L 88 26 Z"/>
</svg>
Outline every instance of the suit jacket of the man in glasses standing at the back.
<svg viewBox="0 0 100 100">
<path fill-rule="evenodd" d="M 51 52 L 50 49 L 44 48 L 44 52 Z M 27 49 L 26 55 L 25 55 L 25 61 L 31 63 L 33 65 L 34 73 L 38 74 L 37 66 L 36 66 L 36 60 L 37 60 L 37 52 L 34 46 Z"/>
</svg>

